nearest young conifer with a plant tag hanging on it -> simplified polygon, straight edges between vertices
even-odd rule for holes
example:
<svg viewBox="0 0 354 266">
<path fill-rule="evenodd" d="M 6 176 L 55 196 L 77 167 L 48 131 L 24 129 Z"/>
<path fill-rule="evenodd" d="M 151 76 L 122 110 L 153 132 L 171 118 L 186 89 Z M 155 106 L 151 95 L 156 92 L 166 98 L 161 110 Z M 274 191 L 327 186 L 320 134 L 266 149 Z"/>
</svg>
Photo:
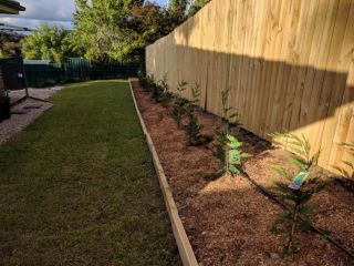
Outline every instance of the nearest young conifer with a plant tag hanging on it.
<svg viewBox="0 0 354 266">
<path fill-rule="evenodd" d="M 308 224 L 311 221 L 311 214 L 316 207 L 308 203 L 315 193 L 319 193 L 324 187 L 319 182 L 319 176 L 312 177 L 309 172 L 311 166 L 316 164 L 320 151 L 314 155 L 310 155 L 311 145 L 303 135 L 301 137 L 289 133 L 274 133 L 271 135 L 285 136 L 288 144 L 299 154 L 292 154 L 290 160 L 298 168 L 295 175 L 280 165 L 270 165 L 284 180 L 274 182 L 274 185 L 278 192 L 277 196 L 289 206 L 289 209 L 284 214 L 280 214 L 277 217 L 271 231 L 285 239 L 283 254 L 292 254 L 294 256 L 300 244 L 296 234 L 303 229 L 309 229 Z M 303 219 L 306 222 L 303 222 Z"/>
</svg>

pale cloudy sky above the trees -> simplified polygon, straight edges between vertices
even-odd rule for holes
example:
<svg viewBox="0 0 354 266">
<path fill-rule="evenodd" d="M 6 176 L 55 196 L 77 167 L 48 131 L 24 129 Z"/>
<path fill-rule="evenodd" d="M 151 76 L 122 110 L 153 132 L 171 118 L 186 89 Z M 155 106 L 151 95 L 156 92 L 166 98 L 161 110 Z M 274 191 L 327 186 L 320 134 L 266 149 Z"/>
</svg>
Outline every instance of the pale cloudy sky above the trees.
<svg viewBox="0 0 354 266">
<path fill-rule="evenodd" d="M 25 7 L 24 12 L 19 16 L 0 14 L 0 23 L 11 25 L 37 28 L 41 22 L 60 24 L 64 29 L 72 29 L 74 0 L 17 0 Z M 155 0 L 156 3 L 165 6 L 168 0 Z"/>
</svg>

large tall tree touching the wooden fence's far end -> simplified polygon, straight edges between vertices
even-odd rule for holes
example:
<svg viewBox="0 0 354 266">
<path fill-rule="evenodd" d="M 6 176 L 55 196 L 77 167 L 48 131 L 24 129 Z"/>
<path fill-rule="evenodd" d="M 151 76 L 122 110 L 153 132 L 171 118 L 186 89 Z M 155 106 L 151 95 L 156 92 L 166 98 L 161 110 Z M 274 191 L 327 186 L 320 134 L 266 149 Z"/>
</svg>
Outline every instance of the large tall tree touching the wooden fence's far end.
<svg viewBox="0 0 354 266">
<path fill-rule="evenodd" d="M 145 47 L 168 34 L 176 23 L 166 9 L 142 0 L 76 0 L 71 40 L 85 58 L 140 62 Z"/>
</svg>

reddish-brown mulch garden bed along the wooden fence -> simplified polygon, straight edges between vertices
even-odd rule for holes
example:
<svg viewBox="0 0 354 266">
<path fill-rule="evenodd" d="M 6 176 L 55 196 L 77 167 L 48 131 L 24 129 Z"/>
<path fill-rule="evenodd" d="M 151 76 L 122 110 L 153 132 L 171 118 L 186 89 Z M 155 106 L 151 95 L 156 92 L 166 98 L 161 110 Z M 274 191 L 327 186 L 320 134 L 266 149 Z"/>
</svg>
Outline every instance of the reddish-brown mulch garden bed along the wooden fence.
<svg viewBox="0 0 354 266">
<path fill-rule="evenodd" d="M 156 103 L 138 82 L 133 82 L 133 89 L 200 265 L 354 265 L 348 255 L 311 232 L 300 234 L 294 260 L 282 258 L 284 242 L 270 232 L 282 208 L 244 177 L 207 181 L 205 176 L 220 166 L 212 152 L 215 143 L 186 146 L 186 133 L 169 115 L 170 106 Z M 223 125 L 220 117 L 201 110 L 198 120 L 204 126 L 201 133 L 214 140 L 215 131 Z M 244 151 L 252 154 L 244 163 L 246 172 L 273 191 L 278 176 L 269 164 L 292 170 L 289 152 L 274 149 L 242 129 L 233 134 L 244 143 Z M 314 224 L 353 250 L 354 193 L 332 177 L 325 177 L 325 182 L 326 188 L 311 200 L 320 204 Z"/>
</svg>

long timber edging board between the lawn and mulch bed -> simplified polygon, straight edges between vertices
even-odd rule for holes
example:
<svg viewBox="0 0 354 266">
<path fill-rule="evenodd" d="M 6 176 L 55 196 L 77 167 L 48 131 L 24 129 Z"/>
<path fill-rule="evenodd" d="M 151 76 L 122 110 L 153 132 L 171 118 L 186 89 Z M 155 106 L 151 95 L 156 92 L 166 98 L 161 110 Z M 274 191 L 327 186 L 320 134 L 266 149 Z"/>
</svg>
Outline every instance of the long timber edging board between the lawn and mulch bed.
<svg viewBox="0 0 354 266">
<path fill-rule="evenodd" d="M 197 266 L 198 262 L 197 262 L 196 255 L 191 248 L 191 245 L 190 245 L 190 242 L 189 242 L 188 236 L 186 234 L 185 227 L 184 227 L 181 219 L 179 217 L 178 209 L 177 209 L 173 193 L 171 193 L 170 187 L 167 182 L 167 177 L 166 177 L 164 168 L 159 162 L 154 142 L 153 142 L 153 140 L 146 129 L 143 116 L 142 116 L 140 111 L 137 106 L 137 102 L 136 102 L 136 99 L 135 99 L 135 95 L 133 92 L 132 81 L 137 81 L 137 80 L 132 79 L 132 78 L 128 79 L 131 93 L 132 93 L 135 110 L 136 110 L 136 113 L 139 117 L 139 122 L 140 122 L 140 125 L 142 125 L 142 129 L 143 129 L 143 132 L 144 132 L 144 135 L 145 135 L 145 139 L 147 142 L 148 149 L 149 149 L 152 156 L 153 156 L 154 166 L 155 166 L 158 182 L 159 182 L 163 195 L 164 195 L 165 205 L 166 205 L 166 208 L 168 212 L 168 216 L 169 216 L 170 224 L 173 227 L 173 233 L 174 233 L 175 241 L 176 241 L 176 244 L 178 247 L 180 259 L 181 259 L 184 266 Z"/>
</svg>

